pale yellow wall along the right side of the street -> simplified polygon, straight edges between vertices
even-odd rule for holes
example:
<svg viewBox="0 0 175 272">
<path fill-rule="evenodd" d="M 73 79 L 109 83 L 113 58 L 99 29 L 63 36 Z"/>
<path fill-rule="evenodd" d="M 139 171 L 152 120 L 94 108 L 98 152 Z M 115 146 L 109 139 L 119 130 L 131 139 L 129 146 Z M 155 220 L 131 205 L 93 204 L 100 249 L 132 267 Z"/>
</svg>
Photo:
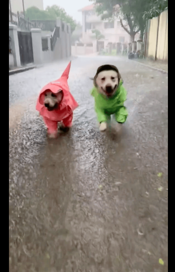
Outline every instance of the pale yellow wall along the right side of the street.
<svg viewBox="0 0 175 272">
<path fill-rule="evenodd" d="M 153 57 L 153 59 L 156 55 L 157 25 L 158 17 L 151 19 L 149 33 L 147 33 L 146 52 L 148 53 L 145 57 Z M 160 15 L 157 59 L 168 60 L 168 10 L 163 11 Z"/>
</svg>

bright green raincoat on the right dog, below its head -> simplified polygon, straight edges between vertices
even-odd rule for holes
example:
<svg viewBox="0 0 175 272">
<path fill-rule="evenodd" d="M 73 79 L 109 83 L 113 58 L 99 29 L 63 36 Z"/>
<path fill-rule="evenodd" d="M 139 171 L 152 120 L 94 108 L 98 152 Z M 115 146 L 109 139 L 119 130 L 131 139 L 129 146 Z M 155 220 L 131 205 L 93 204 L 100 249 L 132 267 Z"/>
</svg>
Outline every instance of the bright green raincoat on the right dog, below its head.
<svg viewBox="0 0 175 272">
<path fill-rule="evenodd" d="M 123 81 L 120 80 L 115 95 L 109 98 L 106 98 L 103 94 L 99 94 L 95 86 L 92 88 L 91 95 L 95 99 L 95 110 L 99 123 L 108 122 L 111 115 L 114 115 L 118 123 L 126 121 L 128 112 L 124 107 L 124 101 L 126 100 L 127 92 L 122 84 Z"/>
</svg>

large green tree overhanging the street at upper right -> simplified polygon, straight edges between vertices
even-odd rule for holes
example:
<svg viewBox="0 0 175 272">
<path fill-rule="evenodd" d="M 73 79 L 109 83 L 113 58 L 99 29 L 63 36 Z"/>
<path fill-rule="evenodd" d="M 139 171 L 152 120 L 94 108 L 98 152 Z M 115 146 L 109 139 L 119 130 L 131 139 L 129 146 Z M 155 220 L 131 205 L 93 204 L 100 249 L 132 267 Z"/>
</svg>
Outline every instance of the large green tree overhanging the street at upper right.
<svg viewBox="0 0 175 272">
<path fill-rule="evenodd" d="M 110 19 L 113 17 L 120 18 L 120 24 L 123 29 L 131 36 L 131 41 L 134 41 L 136 33 L 140 31 L 140 38 L 143 39 L 146 20 L 151 15 L 160 14 L 166 6 L 168 0 L 89 0 L 96 4 L 96 11 L 102 19 Z M 155 13 L 155 5 L 159 7 Z M 157 15 L 157 16 L 158 16 Z M 124 25 L 123 20 L 127 22 Z M 129 27 L 129 29 L 128 29 Z"/>
</svg>

